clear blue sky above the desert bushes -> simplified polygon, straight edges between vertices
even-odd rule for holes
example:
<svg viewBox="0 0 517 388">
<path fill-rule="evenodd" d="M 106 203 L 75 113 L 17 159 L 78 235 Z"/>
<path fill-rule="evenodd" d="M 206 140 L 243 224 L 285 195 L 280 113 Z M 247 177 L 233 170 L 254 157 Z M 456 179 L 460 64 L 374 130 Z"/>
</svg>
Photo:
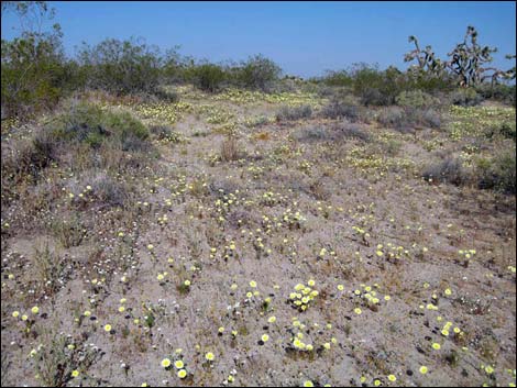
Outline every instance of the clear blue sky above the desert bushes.
<svg viewBox="0 0 517 388">
<path fill-rule="evenodd" d="M 48 2 L 64 32 L 67 53 L 86 41 L 142 36 L 165 49 L 213 62 L 262 53 L 288 74 L 304 77 L 352 63 L 405 68 L 408 35 L 443 57 L 466 25 L 480 43 L 497 46 L 494 64 L 509 68 L 516 52 L 516 4 L 493 2 Z M 2 18 L 2 37 L 18 20 Z"/>
</svg>

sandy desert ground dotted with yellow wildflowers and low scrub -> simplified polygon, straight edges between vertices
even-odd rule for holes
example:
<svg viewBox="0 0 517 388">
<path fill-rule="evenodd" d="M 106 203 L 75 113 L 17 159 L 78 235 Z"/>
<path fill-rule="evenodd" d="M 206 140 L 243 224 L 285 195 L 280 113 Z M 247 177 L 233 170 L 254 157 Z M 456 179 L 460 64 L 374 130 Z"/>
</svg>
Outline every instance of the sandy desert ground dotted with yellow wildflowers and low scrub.
<svg viewBox="0 0 517 388">
<path fill-rule="evenodd" d="M 139 47 L 2 120 L 2 386 L 515 385 L 515 108 Z"/>
</svg>

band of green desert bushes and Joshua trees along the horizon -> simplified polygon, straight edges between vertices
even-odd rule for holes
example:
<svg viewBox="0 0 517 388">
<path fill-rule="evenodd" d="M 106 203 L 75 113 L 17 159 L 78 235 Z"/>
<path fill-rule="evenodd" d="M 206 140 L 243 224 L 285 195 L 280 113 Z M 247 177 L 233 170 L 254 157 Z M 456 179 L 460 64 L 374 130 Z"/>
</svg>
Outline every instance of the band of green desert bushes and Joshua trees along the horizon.
<svg viewBox="0 0 517 388">
<path fill-rule="evenodd" d="M 184 82 L 207 92 L 228 86 L 267 92 L 274 90 L 283 74 L 278 65 L 262 55 L 241 63 L 213 64 L 182 56 L 178 47 L 162 53 L 135 38 L 108 38 L 94 46 L 84 43 L 75 57 L 68 57 L 61 26 L 54 24 L 43 31 L 44 21 L 54 16 L 46 2 L 2 1 L 4 12 L 18 14 L 21 33 L 1 42 L 2 118 L 52 109 L 64 96 L 85 89 L 114 95 L 160 93 L 161 85 Z M 432 93 L 458 86 L 476 88 L 486 97 L 509 96 L 515 101 L 515 85 L 501 82 L 515 79 L 515 55 L 507 56 L 514 60 L 509 70 L 490 66 L 491 54 L 496 49 L 481 46 L 474 27 L 468 27 L 464 41 L 449 53 L 447 60 L 437 58 L 431 46 L 421 49 L 415 36 L 409 41 L 415 49 L 405 55 L 405 60 L 416 64 L 406 71 L 358 64 L 310 81 L 348 88 L 366 106 L 392 104 L 405 90 Z"/>
</svg>

